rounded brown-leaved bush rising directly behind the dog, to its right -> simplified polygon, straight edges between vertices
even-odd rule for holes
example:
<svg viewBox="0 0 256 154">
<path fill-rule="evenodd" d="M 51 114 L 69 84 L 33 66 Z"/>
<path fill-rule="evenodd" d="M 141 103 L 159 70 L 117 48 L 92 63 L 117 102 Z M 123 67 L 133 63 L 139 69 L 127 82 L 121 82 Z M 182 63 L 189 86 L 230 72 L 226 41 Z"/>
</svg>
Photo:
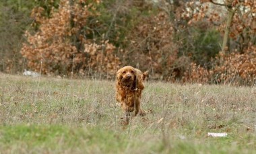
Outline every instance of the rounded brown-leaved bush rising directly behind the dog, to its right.
<svg viewBox="0 0 256 154">
<path fill-rule="evenodd" d="M 133 64 L 141 70 L 153 70 L 155 78 L 166 78 L 174 72 L 174 63 L 178 59 L 177 46 L 172 42 L 172 23 L 168 15 L 160 12 L 157 15 L 141 17 L 127 40 L 131 40 L 123 51 L 125 64 Z"/>
</svg>

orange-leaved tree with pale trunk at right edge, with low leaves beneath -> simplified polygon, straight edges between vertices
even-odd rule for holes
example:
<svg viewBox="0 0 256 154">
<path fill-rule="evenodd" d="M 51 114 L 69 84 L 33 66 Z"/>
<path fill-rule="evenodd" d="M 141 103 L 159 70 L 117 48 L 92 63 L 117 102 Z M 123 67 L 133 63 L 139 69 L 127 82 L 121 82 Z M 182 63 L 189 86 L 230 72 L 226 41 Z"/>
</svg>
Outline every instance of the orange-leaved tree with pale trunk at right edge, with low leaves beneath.
<svg viewBox="0 0 256 154">
<path fill-rule="evenodd" d="M 224 83 L 245 84 L 246 82 L 246 84 L 253 84 L 255 82 L 256 2 L 236 0 L 223 1 L 223 3 L 217 3 L 216 1 L 202 2 L 203 7 L 199 9 L 191 22 L 207 19 L 223 35 L 223 52 L 220 52 L 214 60 L 214 67 L 210 70 L 210 80 Z M 215 8 L 222 7 L 222 10 L 226 11 L 222 11 L 223 13 L 220 13 L 221 11 L 209 13 L 209 4 L 211 3 L 214 4 Z M 223 17 L 222 15 L 226 16 Z"/>
</svg>

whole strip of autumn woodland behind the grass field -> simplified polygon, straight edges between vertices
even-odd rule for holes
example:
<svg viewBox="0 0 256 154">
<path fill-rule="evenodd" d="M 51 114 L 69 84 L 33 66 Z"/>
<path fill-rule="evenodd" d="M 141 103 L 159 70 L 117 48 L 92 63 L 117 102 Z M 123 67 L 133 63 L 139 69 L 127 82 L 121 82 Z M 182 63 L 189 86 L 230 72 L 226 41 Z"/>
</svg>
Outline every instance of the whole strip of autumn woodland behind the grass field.
<svg viewBox="0 0 256 154">
<path fill-rule="evenodd" d="M 0 1 L 0 71 L 253 85 L 255 0 Z"/>
</svg>

